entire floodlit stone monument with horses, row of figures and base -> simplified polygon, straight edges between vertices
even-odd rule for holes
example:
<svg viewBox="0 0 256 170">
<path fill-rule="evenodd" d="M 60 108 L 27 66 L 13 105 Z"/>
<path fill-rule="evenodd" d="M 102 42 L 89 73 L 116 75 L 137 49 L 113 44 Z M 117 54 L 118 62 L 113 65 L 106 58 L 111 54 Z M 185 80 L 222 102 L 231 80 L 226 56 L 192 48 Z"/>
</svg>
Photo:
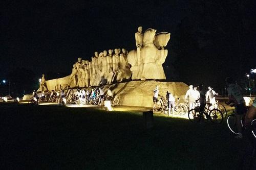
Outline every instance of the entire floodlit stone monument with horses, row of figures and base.
<svg viewBox="0 0 256 170">
<path fill-rule="evenodd" d="M 99 54 L 95 52 L 91 61 L 78 58 L 71 74 L 66 77 L 46 81 L 43 75 L 39 89 L 94 88 L 102 85 L 103 90 L 111 88 L 119 105 L 152 107 L 153 89 L 159 85 L 161 95 L 168 90 L 176 98 L 182 98 L 187 90 L 185 83 L 156 81 L 166 79 L 162 64 L 168 54 L 164 47 L 169 39 L 170 33 L 156 34 L 156 30 L 151 28 L 142 33 L 142 27 L 138 27 L 135 50 L 128 53 L 125 48 L 122 52 L 120 48 L 115 48 L 114 55 L 111 49 L 108 53 L 105 50 Z M 138 81 L 128 81 L 130 79 Z"/>
</svg>

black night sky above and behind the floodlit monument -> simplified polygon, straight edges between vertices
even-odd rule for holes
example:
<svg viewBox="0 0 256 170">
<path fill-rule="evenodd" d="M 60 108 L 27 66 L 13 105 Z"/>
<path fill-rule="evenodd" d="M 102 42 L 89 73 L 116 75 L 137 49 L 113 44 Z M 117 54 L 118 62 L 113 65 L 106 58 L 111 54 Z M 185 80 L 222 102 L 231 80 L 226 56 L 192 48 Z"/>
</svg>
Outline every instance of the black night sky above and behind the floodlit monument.
<svg viewBox="0 0 256 170">
<path fill-rule="evenodd" d="M 1 7 L 0 76 L 16 67 L 31 69 L 38 75 L 49 71 L 70 74 L 78 57 L 91 59 L 95 51 L 114 48 L 135 49 L 134 33 L 142 26 L 143 32 L 154 28 L 157 32 L 171 33 L 164 63 L 169 80 L 186 83 L 212 80 L 217 85 L 217 80 L 223 81 L 230 74 L 241 76 L 256 65 L 255 4 L 227 2 L 230 4 L 186 0 L 7 1 Z M 229 28 L 227 21 L 233 28 Z M 223 35 L 236 28 L 239 45 L 227 45 L 236 36 Z M 209 62 L 212 58 L 214 61 Z M 238 69 L 228 71 L 233 67 Z M 209 68 L 216 70 L 207 74 Z M 194 72 L 199 80 L 191 79 L 189 72 Z M 218 77 L 221 74 L 225 75 Z"/>
</svg>

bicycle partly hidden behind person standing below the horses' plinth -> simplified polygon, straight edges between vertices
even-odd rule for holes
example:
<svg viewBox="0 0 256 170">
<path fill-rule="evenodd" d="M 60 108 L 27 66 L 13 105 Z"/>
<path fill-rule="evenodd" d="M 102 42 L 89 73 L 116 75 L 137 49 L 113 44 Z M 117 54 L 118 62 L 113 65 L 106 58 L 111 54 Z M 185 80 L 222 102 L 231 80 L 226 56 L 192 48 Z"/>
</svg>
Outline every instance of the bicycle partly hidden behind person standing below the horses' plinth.
<svg viewBox="0 0 256 170">
<path fill-rule="evenodd" d="M 167 100 L 164 101 L 163 105 L 162 105 L 162 112 L 163 114 L 168 114 L 168 102 Z M 180 103 L 180 98 L 177 98 L 177 102 L 175 102 L 175 107 L 174 110 L 176 111 L 176 113 L 178 113 L 179 115 L 184 115 L 187 113 L 187 105 L 185 103 Z"/>
</svg>

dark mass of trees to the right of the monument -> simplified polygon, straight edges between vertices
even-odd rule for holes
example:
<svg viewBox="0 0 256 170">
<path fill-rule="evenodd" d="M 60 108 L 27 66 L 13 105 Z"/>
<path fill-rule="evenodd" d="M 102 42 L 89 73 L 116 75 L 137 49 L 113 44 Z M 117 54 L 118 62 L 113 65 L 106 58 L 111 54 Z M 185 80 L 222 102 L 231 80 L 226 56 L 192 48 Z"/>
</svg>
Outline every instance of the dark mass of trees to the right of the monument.
<svg viewBox="0 0 256 170">
<path fill-rule="evenodd" d="M 220 88 L 227 76 L 243 82 L 256 66 L 254 9 L 253 1 L 189 1 L 172 36 L 179 80 Z"/>
</svg>

